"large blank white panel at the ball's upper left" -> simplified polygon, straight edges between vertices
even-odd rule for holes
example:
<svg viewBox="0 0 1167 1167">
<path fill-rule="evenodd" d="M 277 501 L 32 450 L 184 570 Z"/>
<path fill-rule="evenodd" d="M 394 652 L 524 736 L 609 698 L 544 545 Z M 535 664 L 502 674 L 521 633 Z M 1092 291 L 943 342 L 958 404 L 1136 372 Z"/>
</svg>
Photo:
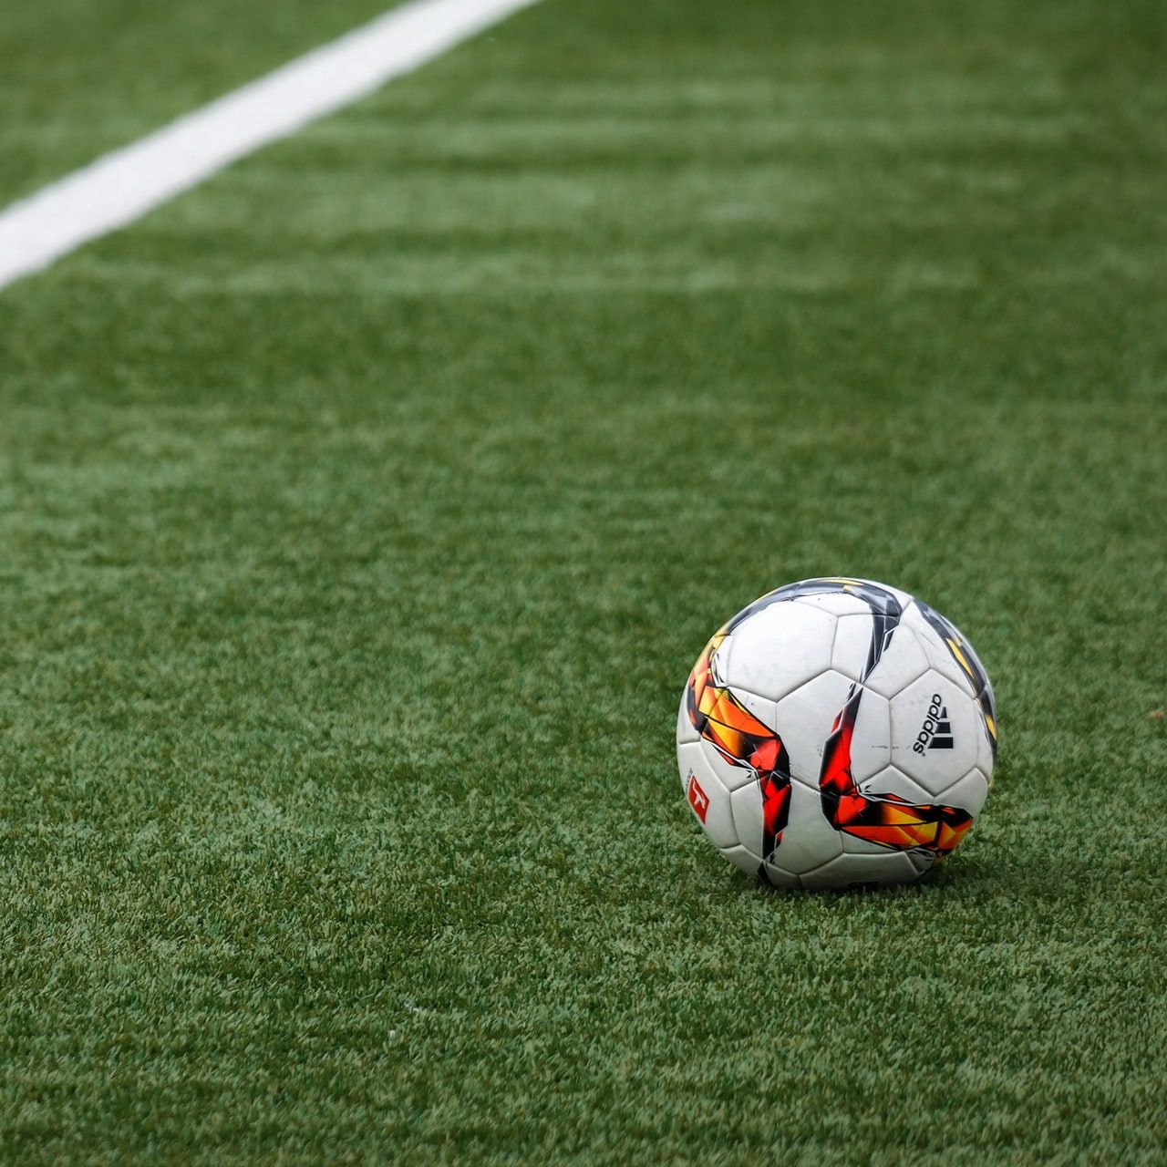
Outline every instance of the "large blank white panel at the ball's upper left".
<svg viewBox="0 0 1167 1167">
<path fill-rule="evenodd" d="M 733 630 L 718 651 L 718 673 L 731 687 L 778 700 L 830 669 L 834 616 L 783 601 Z"/>
</svg>

